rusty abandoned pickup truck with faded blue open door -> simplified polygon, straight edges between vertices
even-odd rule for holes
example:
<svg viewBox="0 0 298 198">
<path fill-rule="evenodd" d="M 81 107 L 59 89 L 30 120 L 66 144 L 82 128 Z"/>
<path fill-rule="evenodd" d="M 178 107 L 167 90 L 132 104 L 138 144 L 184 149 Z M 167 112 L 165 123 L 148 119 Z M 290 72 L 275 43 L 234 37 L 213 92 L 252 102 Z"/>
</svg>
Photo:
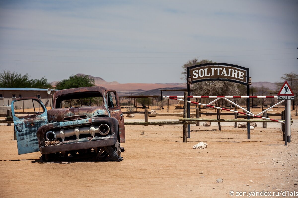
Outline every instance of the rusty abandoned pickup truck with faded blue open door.
<svg viewBox="0 0 298 198">
<path fill-rule="evenodd" d="M 18 107 L 31 105 L 31 115 L 18 117 Z M 122 161 L 124 116 L 115 90 L 83 87 L 56 91 L 52 109 L 35 97 L 11 103 L 18 154 L 40 151 L 43 161 L 58 156 L 107 156 Z M 23 110 L 22 110 L 23 111 Z"/>
</svg>

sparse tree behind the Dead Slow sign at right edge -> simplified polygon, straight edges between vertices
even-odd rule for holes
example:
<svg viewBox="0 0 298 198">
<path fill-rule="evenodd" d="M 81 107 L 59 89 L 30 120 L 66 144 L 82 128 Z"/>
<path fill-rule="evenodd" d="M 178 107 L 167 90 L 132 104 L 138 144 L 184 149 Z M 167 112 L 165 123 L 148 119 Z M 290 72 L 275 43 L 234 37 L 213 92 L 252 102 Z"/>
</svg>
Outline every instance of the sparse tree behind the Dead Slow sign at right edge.
<svg viewBox="0 0 298 198">
<path fill-rule="evenodd" d="M 295 73 L 295 72 L 284 74 L 281 77 L 281 79 L 282 79 L 282 81 L 279 81 L 279 82 L 275 83 L 276 86 L 277 86 L 277 89 L 278 89 L 276 91 L 277 92 L 280 91 L 279 89 L 281 88 L 281 86 L 283 86 L 283 83 L 285 82 L 285 80 L 289 83 L 289 85 L 290 85 L 290 87 L 291 87 L 291 89 L 294 93 L 294 96 L 295 96 L 295 99 L 293 100 L 293 110 L 295 110 L 295 107 L 296 107 L 296 115 L 297 115 L 298 74 Z"/>
</svg>

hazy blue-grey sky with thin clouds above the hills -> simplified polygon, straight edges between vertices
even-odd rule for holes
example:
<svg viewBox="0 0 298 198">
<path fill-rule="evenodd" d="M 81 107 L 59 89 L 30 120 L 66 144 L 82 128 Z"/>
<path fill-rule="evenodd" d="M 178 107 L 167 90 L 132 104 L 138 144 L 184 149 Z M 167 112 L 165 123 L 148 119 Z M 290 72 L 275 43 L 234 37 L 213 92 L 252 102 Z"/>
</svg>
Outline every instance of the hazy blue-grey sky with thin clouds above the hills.
<svg viewBox="0 0 298 198">
<path fill-rule="evenodd" d="M 183 83 L 193 58 L 276 82 L 298 73 L 297 47 L 298 0 L 0 0 L 0 70 L 49 82 Z"/>
</svg>

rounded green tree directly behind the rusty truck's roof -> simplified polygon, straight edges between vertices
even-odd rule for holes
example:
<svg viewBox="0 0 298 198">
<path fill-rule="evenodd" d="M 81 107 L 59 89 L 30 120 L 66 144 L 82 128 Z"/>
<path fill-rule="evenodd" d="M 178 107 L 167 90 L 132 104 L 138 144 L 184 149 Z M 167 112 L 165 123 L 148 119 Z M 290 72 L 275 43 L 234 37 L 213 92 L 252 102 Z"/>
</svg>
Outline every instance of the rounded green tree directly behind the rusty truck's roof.
<svg viewBox="0 0 298 198">
<path fill-rule="evenodd" d="M 78 87 L 93 87 L 94 78 L 89 77 L 87 75 L 72 75 L 69 76 L 69 79 L 61 80 L 56 84 L 57 89 L 70 89 L 70 88 L 78 88 Z"/>
</svg>

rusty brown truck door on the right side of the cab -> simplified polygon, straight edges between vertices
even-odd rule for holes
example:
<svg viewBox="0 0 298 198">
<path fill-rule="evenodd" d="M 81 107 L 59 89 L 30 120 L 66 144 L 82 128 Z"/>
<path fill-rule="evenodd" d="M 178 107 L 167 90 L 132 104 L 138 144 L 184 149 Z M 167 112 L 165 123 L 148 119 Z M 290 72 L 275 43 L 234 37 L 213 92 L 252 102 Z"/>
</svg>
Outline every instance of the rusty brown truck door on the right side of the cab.
<svg viewBox="0 0 298 198">
<path fill-rule="evenodd" d="M 115 90 L 106 90 L 105 93 L 111 117 L 116 118 L 119 122 L 120 143 L 125 142 L 124 116 L 119 105 L 117 93 Z"/>
</svg>

